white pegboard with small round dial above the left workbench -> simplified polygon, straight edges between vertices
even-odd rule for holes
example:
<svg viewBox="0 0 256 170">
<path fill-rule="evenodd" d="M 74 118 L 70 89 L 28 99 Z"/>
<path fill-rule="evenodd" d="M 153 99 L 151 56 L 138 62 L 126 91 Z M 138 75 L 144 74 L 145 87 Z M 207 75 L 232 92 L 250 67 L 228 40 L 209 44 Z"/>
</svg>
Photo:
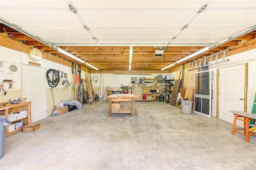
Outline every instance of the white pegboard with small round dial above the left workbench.
<svg viewBox="0 0 256 170">
<path fill-rule="evenodd" d="M 0 46 L 0 85 L 3 89 L 9 89 L 9 83 L 4 80 L 12 80 L 12 89 L 21 89 L 21 63 L 20 52 Z M 10 66 L 16 65 L 17 71 L 11 71 Z"/>
</svg>

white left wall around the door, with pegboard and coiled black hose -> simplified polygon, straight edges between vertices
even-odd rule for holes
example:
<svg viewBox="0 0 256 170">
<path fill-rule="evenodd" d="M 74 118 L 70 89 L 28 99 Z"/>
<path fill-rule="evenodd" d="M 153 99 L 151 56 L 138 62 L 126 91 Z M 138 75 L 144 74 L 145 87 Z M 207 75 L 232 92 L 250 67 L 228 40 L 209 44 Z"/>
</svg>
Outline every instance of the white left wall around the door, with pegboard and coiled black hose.
<svg viewBox="0 0 256 170">
<path fill-rule="evenodd" d="M 52 61 L 48 61 L 46 59 L 42 59 L 41 61 L 34 61 L 30 58 L 29 54 L 22 53 L 20 51 L 15 51 L 13 49 L 9 49 L 3 46 L 0 46 L 0 61 L 2 62 L 2 66 L 0 67 L 0 82 L 3 79 L 12 79 L 16 83 L 13 83 L 13 89 L 8 89 L 8 83 L 0 83 L 4 85 L 4 89 L 7 91 L 6 95 L 4 93 L 0 93 L 0 102 L 8 102 L 8 99 L 18 99 L 22 96 L 21 89 L 21 64 L 28 65 L 28 61 L 40 64 L 42 68 L 48 69 L 56 69 L 67 73 L 67 80 L 71 83 L 73 82 L 71 67 L 67 67 L 65 65 L 61 65 L 58 63 L 54 63 Z M 18 70 L 16 72 L 10 71 L 10 65 L 16 65 Z M 35 66 L 37 67 L 37 66 Z M 61 73 L 60 73 L 61 74 Z M 84 73 L 82 73 L 84 75 Z M 46 78 L 46 77 L 45 77 Z M 65 85 L 62 85 L 62 78 L 57 87 L 53 88 L 54 93 L 54 103 L 58 105 L 61 100 L 72 100 L 73 99 L 73 91 L 72 86 L 70 88 L 65 88 Z M 52 91 L 48 83 L 46 82 L 47 88 L 47 116 L 52 115 Z M 33 103 L 32 103 L 33 105 Z"/>
</svg>

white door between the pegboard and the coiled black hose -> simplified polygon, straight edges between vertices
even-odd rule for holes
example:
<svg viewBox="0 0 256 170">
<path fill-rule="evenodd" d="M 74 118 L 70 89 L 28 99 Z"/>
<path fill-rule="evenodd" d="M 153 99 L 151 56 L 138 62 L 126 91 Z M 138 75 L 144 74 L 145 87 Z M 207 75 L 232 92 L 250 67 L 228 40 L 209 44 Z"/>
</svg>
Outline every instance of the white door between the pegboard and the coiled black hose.
<svg viewBox="0 0 256 170">
<path fill-rule="evenodd" d="M 46 118 L 46 69 L 22 64 L 22 97 L 32 101 L 31 122 Z"/>
</svg>

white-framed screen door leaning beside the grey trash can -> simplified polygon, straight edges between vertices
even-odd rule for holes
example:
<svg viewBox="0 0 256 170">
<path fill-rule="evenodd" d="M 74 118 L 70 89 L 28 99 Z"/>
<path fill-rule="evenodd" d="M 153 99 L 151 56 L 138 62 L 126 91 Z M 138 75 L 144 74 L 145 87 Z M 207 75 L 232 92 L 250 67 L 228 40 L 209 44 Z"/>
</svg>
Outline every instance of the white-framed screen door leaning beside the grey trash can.
<svg viewBox="0 0 256 170">
<path fill-rule="evenodd" d="M 194 73 L 194 112 L 211 117 L 212 108 L 212 71 Z"/>
</svg>

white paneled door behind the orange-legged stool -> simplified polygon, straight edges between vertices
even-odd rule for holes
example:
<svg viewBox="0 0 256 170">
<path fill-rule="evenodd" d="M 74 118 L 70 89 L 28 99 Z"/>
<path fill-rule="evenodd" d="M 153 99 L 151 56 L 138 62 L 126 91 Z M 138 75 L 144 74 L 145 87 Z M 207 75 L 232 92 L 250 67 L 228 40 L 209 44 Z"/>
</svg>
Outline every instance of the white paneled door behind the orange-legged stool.
<svg viewBox="0 0 256 170">
<path fill-rule="evenodd" d="M 234 115 L 228 111 L 244 111 L 245 65 L 220 69 L 219 119 L 233 123 Z M 242 121 L 237 125 L 244 127 Z"/>
</svg>

